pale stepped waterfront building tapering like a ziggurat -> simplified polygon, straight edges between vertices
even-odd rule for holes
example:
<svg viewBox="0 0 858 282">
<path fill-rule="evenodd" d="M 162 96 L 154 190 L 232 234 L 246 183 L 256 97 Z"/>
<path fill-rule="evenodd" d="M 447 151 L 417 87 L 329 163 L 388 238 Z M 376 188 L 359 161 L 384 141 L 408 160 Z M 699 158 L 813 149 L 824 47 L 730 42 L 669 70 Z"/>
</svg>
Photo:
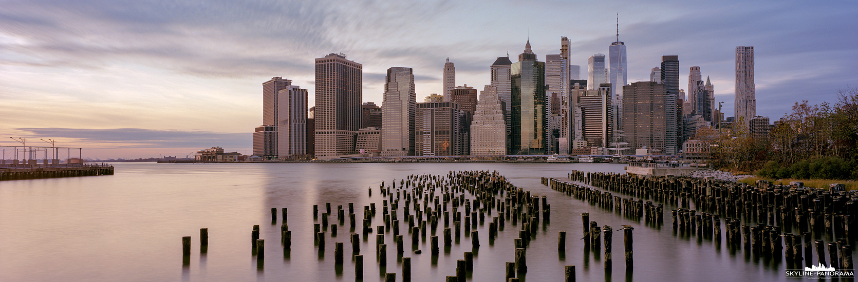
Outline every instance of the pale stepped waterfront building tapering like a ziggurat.
<svg viewBox="0 0 858 282">
<path fill-rule="evenodd" d="M 471 155 L 506 154 L 506 103 L 498 98 L 498 87 L 486 85 L 471 122 Z"/>
</svg>

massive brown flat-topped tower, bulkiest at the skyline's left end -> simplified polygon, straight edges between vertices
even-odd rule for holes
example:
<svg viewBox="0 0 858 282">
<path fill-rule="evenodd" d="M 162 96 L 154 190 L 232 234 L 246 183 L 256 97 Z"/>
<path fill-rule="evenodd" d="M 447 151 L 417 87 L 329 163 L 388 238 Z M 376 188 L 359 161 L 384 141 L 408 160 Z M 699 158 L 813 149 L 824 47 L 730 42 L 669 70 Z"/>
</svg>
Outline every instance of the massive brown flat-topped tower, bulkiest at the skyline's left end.
<svg viewBox="0 0 858 282">
<path fill-rule="evenodd" d="M 316 58 L 316 157 L 354 152 L 363 111 L 363 65 L 344 54 Z"/>
</svg>

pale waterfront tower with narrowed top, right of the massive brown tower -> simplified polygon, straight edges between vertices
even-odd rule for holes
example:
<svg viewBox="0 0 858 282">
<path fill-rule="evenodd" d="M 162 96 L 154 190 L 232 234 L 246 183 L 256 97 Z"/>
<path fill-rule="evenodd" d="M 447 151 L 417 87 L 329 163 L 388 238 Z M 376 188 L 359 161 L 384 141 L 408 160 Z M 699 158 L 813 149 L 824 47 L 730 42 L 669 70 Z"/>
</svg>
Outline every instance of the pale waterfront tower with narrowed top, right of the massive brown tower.
<svg viewBox="0 0 858 282">
<path fill-rule="evenodd" d="M 382 156 L 414 155 L 416 104 L 414 70 L 402 67 L 387 69 L 382 104 Z"/>
</svg>

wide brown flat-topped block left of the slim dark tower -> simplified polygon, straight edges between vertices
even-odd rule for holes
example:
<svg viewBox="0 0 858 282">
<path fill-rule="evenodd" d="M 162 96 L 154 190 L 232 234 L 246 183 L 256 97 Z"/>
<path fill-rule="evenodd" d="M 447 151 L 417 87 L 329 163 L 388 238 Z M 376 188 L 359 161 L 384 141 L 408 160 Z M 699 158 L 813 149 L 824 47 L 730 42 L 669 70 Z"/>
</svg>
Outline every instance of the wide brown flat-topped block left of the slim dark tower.
<svg viewBox="0 0 858 282">
<path fill-rule="evenodd" d="M 623 87 L 623 132 L 632 149 L 647 147 L 663 152 L 667 146 L 665 104 L 668 95 L 665 88 L 655 81 L 638 81 Z"/>
</svg>

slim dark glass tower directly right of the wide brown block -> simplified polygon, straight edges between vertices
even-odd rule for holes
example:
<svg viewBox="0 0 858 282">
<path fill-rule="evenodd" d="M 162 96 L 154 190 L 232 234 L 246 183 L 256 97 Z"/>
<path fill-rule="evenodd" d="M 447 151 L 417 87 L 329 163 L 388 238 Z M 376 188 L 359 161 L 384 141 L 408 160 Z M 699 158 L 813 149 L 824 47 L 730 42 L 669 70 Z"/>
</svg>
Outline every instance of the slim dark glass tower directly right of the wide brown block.
<svg viewBox="0 0 858 282">
<path fill-rule="evenodd" d="M 664 150 L 666 154 L 680 153 L 682 147 L 682 119 L 678 111 L 680 101 L 680 59 L 678 56 L 662 56 L 662 85 L 664 85 Z M 625 103 L 624 103 L 625 104 Z"/>
</svg>

